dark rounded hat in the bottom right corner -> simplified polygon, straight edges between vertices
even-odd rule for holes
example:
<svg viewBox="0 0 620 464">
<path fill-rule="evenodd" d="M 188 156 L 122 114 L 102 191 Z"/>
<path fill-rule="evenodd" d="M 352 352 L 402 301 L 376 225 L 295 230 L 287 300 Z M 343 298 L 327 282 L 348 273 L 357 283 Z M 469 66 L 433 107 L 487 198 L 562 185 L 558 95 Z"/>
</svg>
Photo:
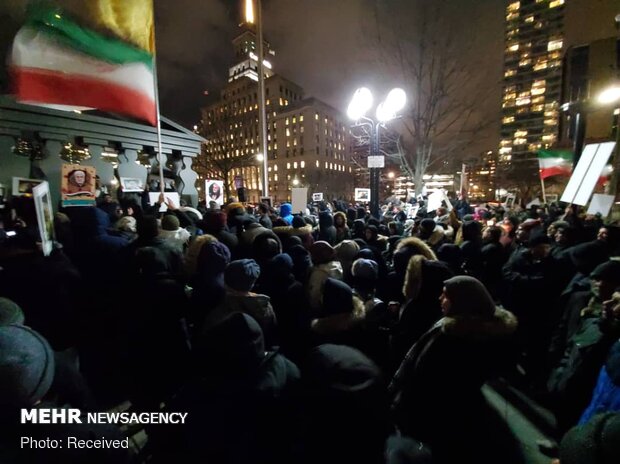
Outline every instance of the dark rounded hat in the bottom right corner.
<svg viewBox="0 0 620 464">
<path fill-rule="evenodd" d="M 620 462 L 620 413 L 594 416 L 570 429 L 560 444 L 562 464 L 616 464 Z"/>
</svg>

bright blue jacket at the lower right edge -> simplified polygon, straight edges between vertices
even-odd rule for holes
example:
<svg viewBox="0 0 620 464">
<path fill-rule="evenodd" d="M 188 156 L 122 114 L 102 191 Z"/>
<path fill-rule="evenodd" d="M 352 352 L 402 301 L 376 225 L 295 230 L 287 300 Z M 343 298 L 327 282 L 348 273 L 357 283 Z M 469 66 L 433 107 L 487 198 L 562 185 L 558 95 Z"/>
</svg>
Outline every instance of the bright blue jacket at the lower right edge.
<svg viewBox="0 0 620 464">
<path fill-rule="evenodd" d="M 620 411 L 620 341 L 609 350 L 607 362 L 601 369 L 594 388 L 592 401 L 581 416 L 579 424 L 585 424 L 596 414 L 616 411 Z"/>
</svg>

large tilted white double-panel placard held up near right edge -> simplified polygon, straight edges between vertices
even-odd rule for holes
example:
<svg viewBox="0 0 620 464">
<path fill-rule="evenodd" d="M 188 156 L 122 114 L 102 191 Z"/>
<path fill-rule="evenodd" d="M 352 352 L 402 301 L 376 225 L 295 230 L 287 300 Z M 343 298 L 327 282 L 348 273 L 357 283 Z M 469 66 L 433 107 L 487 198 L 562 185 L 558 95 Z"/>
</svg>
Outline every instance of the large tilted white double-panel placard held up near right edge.
<svg viewBox="0 0 620 464">
<path fill-rule="evenodd" d="M 588 203 L 615 145 L 616 142 L 605 142 L 585 146 L 561 201 L 581 206 Z"/>
</svg>

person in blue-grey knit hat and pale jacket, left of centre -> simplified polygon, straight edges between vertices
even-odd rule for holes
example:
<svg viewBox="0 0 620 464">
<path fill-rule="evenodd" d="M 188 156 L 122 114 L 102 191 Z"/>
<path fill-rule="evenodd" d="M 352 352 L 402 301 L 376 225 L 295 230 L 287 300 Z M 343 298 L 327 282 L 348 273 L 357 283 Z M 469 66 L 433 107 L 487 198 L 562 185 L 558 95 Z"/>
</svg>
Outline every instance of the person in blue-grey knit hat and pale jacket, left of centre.
<svg viewBox="0 0 620 464">
<path fill-rule="evenodd" d="M 226 295 L 222 303 L 207 315 L 203 333 L 219 324 L 229 314 L 242 312 L 249 314 L 260 324 L 268 347 L 277 345 L 277 321 L 271 301 L 267 295 L 252 293 L 259 276 L 260 267 L 253 259 L 239 259 L 226 266 Z"/>
</svg>

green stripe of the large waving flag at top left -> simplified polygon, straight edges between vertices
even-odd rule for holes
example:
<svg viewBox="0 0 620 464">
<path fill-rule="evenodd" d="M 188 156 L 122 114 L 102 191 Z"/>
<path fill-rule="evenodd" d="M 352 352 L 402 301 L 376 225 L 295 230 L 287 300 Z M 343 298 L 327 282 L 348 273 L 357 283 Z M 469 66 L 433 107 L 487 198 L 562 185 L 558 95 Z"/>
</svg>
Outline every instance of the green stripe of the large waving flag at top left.
<svg viewBox="0 0 620 464">
<path fill-rule="evenodd" d="M 83 28 L 63 16 L 59 9 L 32 8 L 29 10 L 26 24 L 45 33 L 62 45 L 110 63 L 142 62 L 149 67 L 153 66 L 153 56 L 150 53 L 119 39 L 105 37 L 95 31 Z"/>
</svg>

